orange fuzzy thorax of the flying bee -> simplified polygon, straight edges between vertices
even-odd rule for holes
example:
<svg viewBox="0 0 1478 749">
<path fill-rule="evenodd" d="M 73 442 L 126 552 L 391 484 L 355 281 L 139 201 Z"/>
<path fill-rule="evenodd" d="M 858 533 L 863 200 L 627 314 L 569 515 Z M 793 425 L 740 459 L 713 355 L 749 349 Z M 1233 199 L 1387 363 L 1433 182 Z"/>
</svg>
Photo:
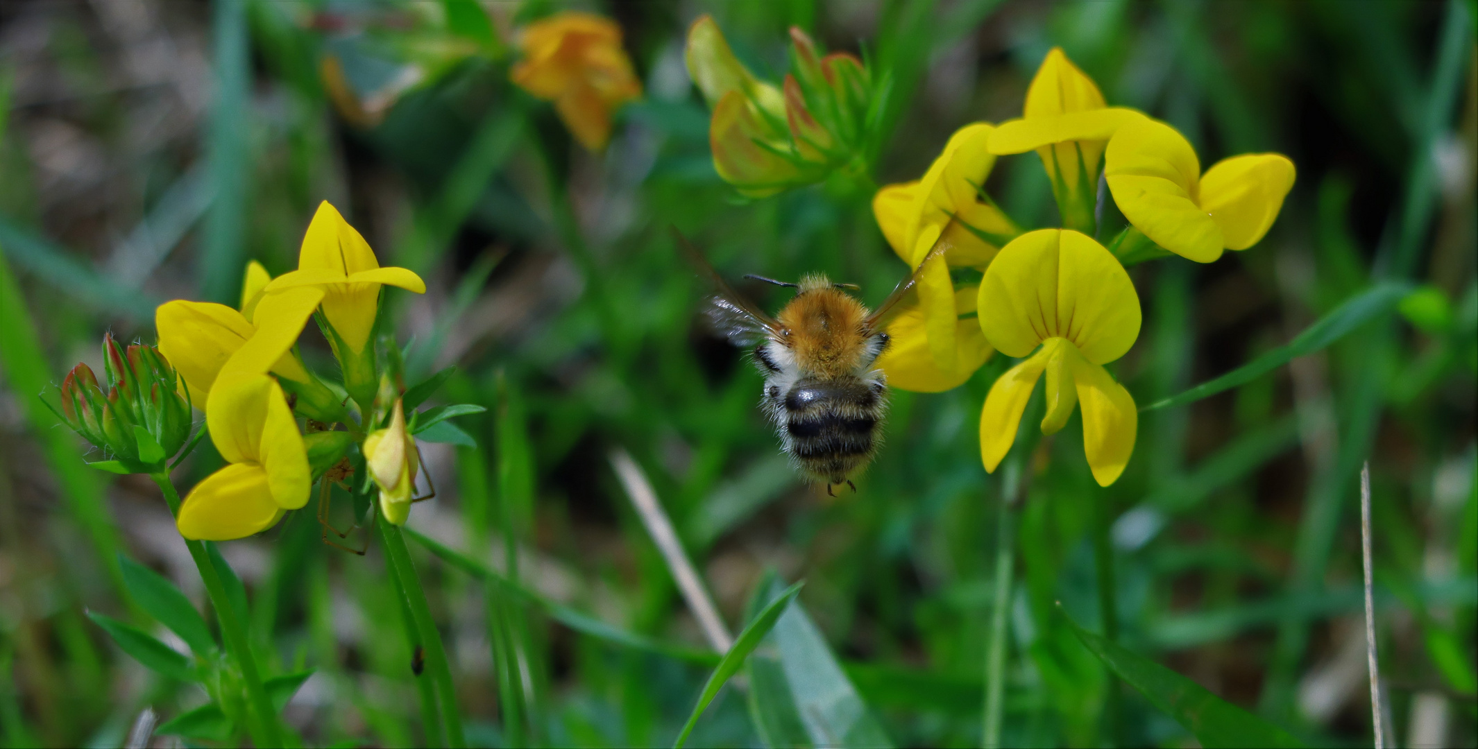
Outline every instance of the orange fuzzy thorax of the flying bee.
<svg viewBox="0 0 1478 749">
<path fill-rule="evenodd" d="M 826 276 L 806 276 L 800 287 L 779 315 L 795 363 L 820 377 L 853 374 L 865 352 L 868 307 Z"/>
</svg>

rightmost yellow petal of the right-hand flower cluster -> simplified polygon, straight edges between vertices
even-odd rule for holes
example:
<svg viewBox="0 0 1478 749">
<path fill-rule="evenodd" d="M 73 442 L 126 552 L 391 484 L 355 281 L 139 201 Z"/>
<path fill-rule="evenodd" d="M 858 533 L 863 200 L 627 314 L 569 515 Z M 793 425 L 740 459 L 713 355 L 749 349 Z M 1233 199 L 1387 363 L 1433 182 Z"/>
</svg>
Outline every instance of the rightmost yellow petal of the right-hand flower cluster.
<svg viewBox="0 0 1478 749">
<path fill-rule="evenodd" d="M 1200 205 L 1221 228 L 1227 250 L 1246 250 L 1268 233 L 1293 189 L 1293 163 L 1281 154 L 1243 154 L 1202 174 Z"/>
</svg>

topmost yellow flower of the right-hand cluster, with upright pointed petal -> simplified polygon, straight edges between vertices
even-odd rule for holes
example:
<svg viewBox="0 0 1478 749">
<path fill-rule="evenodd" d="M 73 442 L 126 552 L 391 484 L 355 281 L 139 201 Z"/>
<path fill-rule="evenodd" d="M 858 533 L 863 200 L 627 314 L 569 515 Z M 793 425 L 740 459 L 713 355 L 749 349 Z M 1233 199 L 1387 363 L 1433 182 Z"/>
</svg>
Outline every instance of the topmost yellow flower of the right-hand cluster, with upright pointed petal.
<svg viewBox="0 0 1478 749">
<path fill-rule="evenodd" d="M 1122 124 L 1142 117 L 1107 106 L 1098 84 L 1061 47 L 1052 47 L 1026 92 L 1021 118 L 1001 123 L 990 137 L 990 152 L 1036 151 L 1052 180 L 1064 225 L 1091 229 L 1104 143 Z"/>
</svg>

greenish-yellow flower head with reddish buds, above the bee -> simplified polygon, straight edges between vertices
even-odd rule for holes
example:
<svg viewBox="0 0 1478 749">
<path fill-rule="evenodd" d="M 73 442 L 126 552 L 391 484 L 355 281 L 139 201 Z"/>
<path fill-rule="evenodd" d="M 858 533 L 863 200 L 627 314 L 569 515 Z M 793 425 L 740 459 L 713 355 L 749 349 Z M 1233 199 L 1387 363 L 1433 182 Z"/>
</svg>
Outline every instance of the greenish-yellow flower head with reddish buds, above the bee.
<svg viewBox="0 0 1478 749">
<path fill-rule="evenodd" d="M 847 53 L 822 56 L 791 28 L 791 68 L 780 86 L 761 81 L 735 56 L 718 24 L 699 16 L 687 30 L 687 71 L 712 109 L 714 168 L 751 198 L 823 182 L 862 180 L 876 127 L 871 71 Z"/>
</svg>

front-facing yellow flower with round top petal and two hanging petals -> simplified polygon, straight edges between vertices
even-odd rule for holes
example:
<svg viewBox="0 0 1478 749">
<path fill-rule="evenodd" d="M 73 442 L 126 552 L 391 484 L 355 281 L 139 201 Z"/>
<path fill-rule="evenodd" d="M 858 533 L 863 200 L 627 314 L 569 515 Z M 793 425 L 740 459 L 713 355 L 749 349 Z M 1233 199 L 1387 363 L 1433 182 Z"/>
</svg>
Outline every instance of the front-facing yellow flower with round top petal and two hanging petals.
<svg viewBox="0 0 1478 749">
<path fill-rule="evenodd" d="M 1042 433 L 1083 408 L 1083 451 L 1100 486 L 1123 473 L 1134 452 L 1134 397 L 1103 365 L 1140 335 L 1140 297 L 1123 266 L 1072 229 L 1029 232 L 1001 250 L 980 282 L 980 326 L 1001 353 L 1030 359 L 990 387 L 980 414 L 980 456 L 995 471 L 1015 440 L 1032 389 L 1046 372 Z M 1038 349 L 1041 346 L 1041 349 Z"/>
</svg>

